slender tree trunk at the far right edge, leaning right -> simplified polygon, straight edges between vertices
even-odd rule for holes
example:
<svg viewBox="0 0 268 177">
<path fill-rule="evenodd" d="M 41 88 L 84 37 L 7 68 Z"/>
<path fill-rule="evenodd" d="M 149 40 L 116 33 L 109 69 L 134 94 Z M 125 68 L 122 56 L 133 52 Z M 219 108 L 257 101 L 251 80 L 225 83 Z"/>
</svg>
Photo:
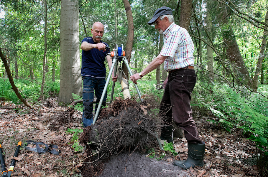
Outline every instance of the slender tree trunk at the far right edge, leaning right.
<svg viewBox="0 0 268 177">
<path fill-rule="evenodd" d="M 266 15 L 265 15 L 265 23 L 268 23 L 268 9 L 267 9 Z M 268 26 L 265 26 L 265 28 L 268 29 Z M 253 90 L 255 92 L 257 92 L 257 90 L 258 90 L 258 80 L 259 80 L 259 75 L 260 75 L 260 71 L 261 71 L 261 68 L 262 68 L 262 61 L 263 61 L 263 58 L 264 58 L 264 52 L 265 52 L 266 44 L 267 44 L 267 40 L 266 40 L 267 34 L 268 34 L 268 32 L 266 30 L 264 30 L 263 31 L 261 51 L 260 51 L 260 54 L 259 54 L 259 59 L 258 59 L 258 62 L 257 62 L 257 67 L 256 67 L 254 79 L 253 79 Z"/>
</svg>

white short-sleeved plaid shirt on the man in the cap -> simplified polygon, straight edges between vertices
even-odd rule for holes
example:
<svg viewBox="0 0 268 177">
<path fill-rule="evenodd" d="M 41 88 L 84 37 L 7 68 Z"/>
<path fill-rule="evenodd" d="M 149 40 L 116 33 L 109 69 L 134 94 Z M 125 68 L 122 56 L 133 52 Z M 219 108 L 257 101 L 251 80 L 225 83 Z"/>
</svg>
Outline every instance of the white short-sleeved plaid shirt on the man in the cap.
<svg viewBox="0 0 268 177">
<path fill-rule="evenodd" d="M 167 56 L 165 70 L 171 71 L 194 66 L 194 44 L 188 31 L 174 22 L 163 32 L 164 45 L 160 55 Z"/>
</svg>

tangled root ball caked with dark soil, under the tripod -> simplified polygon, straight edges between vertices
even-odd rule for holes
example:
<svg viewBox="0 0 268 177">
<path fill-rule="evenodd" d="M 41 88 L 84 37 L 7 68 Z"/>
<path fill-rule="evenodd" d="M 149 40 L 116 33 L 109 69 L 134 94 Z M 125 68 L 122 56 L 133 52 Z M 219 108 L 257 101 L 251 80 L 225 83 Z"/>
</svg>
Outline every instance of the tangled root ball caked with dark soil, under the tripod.
<svg viewBox="0 0 268 177">
<path fill-rule="evenodd" d="M 88 149 L 98 156 L 105 154 L 109 157 L 136 149 L 145 152 L 156 146 L 154 132 L 160 125 L 156 116 L 146 114 L 146 107 L 135 100 L 115 100 L 102 109 L 94 125 L 84 129 L 80 142 L 87 144 Z"/>
</svg>

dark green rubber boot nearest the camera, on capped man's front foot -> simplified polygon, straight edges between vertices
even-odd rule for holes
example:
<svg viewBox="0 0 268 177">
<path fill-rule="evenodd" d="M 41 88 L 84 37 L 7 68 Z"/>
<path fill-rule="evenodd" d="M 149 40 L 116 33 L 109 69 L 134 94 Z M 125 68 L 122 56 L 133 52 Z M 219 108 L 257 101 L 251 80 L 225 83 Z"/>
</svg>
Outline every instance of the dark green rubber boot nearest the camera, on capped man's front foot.
<svg viewBox="0 0 268 177">
<path fill-rule="evenodd" d="M 203 157 L 205 155 L 204 144 L 188 144 L 188 159 L 185 161 L 173 161 L 173 164 L 183 169 L 189 169 L 195 166 L 204 166 Z"/>
</svg>

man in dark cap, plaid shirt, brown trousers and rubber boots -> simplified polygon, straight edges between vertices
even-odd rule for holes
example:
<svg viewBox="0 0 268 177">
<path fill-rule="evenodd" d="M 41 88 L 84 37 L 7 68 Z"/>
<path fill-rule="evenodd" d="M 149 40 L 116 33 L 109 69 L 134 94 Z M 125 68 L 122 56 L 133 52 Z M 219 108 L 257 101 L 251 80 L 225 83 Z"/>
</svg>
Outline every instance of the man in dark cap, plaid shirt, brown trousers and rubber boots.
<svg viewBox="0 0 268 177">
<path fill-rule="evenodd" d="M 169 7 L 160 7 L 154 12 L 148 24 L 154 23 L 155 29 L 165 36 L 164 45 L 160 54 L 142 72 L 132 75 L 130 79 L 137 84 L 138 79 L 165 62 L 165 70 L 169 75 L 164 82 L 165 92 L 159 114 L 167 125 L 161 128 L 160 138 L 172 142 L 173 117 L 176 125 L 184 130 L 188 142 L 188 159 L 174 161 L 173 164 L 186 169 L 204 165 L 205 143 L 198 137 L 190 106 L 190 94 L 196 82 L 193 41 L 188 31 L 176 25 L 173 20 L 172 9 Z"/>
</svg>

